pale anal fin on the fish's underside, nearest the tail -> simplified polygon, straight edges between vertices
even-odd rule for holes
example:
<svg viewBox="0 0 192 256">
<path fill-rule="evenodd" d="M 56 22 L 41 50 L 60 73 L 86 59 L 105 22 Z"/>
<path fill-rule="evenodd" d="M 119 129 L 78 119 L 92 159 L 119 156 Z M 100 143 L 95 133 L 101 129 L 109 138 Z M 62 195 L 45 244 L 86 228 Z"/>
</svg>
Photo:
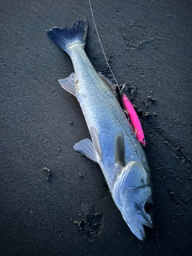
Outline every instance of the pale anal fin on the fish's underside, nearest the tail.
<svg viewBox="0 0 192 256">
<path fill-rule="evenodd" d="M 68 91 L 70 94 L 73 94 L 76 97 L 76 83 L 77 79 L 75 78 L 74 72 L 70 74 L 68 78 L 59 79 L 58 82 L 62 86 L 63 89 Z"/>
</svg>

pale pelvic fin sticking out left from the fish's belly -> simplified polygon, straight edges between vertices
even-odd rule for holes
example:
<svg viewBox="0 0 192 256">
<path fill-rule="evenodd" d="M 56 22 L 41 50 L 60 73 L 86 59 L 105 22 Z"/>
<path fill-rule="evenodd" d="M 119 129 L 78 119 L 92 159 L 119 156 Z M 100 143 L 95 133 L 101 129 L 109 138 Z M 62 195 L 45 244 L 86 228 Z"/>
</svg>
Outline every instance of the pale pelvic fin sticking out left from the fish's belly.
<svg viewBox="0 0 192 256">
<path fill-rule="evenodd" d="M 78 151 L 81 154 L 84 154 L 87 158 L 94 162 L 100 162 L 100 156 L 89 138 L 85 138 L 82 141 L 74 144 L 74 150 Z"/>
</svg>

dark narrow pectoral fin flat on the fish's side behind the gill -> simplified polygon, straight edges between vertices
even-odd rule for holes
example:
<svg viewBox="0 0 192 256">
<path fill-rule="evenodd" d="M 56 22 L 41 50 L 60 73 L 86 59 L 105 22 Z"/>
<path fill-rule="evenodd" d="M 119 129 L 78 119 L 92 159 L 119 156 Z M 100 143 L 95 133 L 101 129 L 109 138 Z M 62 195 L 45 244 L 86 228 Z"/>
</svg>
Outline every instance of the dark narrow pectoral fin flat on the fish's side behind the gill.
<svg viewBox="0 0 192 256">
<path fill-rule="evenodd" d="M 120 166 L 125 166 L 125 142 L 123 133 L 117 134 L 114 141 L 114 162 Z"/>
</svg>

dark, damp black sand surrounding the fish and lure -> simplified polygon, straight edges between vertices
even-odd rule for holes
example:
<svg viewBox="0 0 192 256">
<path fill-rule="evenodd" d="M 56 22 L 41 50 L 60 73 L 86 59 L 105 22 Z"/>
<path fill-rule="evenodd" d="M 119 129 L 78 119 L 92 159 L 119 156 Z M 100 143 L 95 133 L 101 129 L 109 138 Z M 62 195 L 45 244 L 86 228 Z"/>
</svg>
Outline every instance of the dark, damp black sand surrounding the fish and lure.
<svg viewBox="0 0 192 256">
<path fill-rule="evenodd" d="M 46 30 L 87 18 L 86 53 L 109 73 L 88 1 L 2 0 L 0 254 L 191 255 L 191 2 L 92 2 L 110 65 L 142 115 L 154 229 L 135 238 L 99 167 L 72 148 L 89 133 L 57 82 L 70 58 Z"/>
</svg>

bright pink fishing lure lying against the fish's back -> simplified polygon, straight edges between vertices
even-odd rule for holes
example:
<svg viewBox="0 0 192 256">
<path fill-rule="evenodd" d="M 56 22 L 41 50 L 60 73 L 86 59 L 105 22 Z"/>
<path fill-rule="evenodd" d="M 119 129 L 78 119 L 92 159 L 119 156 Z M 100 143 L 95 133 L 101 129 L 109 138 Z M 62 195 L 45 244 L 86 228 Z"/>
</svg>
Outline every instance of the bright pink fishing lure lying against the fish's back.
<svg viewBox="0 0 192 256">
<path fill-rule="evenodd" d="M 138 114 L 134 110 L 134 106 L 131 104 L 129 98 L 127 98 L 125 94 L 122 94 L 122 101 L 124 103 L 126 111 L 128 112 L 130 121 L 132 122 L 132 125 L 134 126 L 134 132 L 138 138 L 138 141 L 140 143 L 142 143 L 143 146 L 146 146 L 146 140 L 145 140 L 144 133 L 142 130 L 142 125 L 138 119 Z"/>
</svg>

